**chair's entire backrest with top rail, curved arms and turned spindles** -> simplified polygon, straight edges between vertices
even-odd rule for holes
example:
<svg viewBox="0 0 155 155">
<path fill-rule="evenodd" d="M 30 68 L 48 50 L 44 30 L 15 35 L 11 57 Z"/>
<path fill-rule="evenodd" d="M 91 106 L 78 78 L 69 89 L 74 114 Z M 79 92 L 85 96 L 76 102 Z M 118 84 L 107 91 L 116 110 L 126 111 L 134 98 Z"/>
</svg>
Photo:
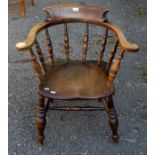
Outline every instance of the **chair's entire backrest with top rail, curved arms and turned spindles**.
<svg viewBox="0 0 155 155">
<path fill-rule="evenodd" d="M 40 31 L 45 30 L 46 43 L 48 46 L 48 54 L 51 59 L 51 63 L 54 64 L 52 42 L 48 32 L 48 27 L 50 26 L 64 24 L 64 51 L 66 55 L 66 62 L 69 60 L 69 36 L 68 36 L 67 23 L 73 23 L 73 22 L 86 23 L 85 32 L 83 36 L 82 62 L 86 62 L 86 55 L 89 41 L 89 24 L 94 24 L 105 28 L 105 35 L 103 37 L 103 40 L 101 42 L 101 48 L 99 50 L 98 65 L 101 64 L 102 57 L 105 52 L 105 47 L 108 38 L 108 31 L 109 30 L 112 31 L 117 39 L 109 54 L 107 61 L 106 69 L 110 81 L 114 80 L 116 74 L 119 71 L 120 63 L 121 60 L 123 59 L 124 52 L 138 51 L 138 46 L 136 44 L 129 43 L 118 26 L 107 21 L 106 18 L 106 13 L 108 12 L 107 9 L 96 7 L 94 5 L 83 5 L 75 3 L 75 4 L 52 6 L 45 8 L 43 10 L 47 13 L 46 20 L 44 22 L 35 25 L 29 32 L 28 37 L 24 42 L 16 44 L 16 48 L 19 51 L 29 50 L 34 65 L 34 70 L 38 74 L 39 79 L 41 81 L 44 80 L 43 74 L 46 73 L 46 66 L 42 50 L 37 41 L 37 34 Z M 35 44 L 35 47 L 37 49 L 38 59 L 36 58 L 36 55 L 32 51 L 33 44 Z M 121 51 L 114 59 L 118 46 L 121 48 Z M 38 60 L 40 62 L 38 62 Z M 44 73 L 42 72 L 42 70 L 44 71 Z"/>
</svg>

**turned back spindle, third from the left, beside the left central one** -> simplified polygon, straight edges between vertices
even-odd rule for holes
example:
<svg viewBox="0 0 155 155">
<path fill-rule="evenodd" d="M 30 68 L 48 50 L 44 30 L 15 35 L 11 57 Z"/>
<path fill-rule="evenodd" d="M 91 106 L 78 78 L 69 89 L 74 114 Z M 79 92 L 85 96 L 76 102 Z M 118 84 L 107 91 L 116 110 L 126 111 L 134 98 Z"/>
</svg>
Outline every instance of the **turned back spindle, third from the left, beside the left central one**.
<svg viewBox="0 0 155 155">
<path fill-rule="evenodd" d="M 48 32 L 47 28 L 45 29 L 45 36 L 46 36 L 45 37 L 46 44 L 47 44 L 47 47 L 48 47 L 48 54 L 49 54 L 51 63 L 54 64 L 53 47 L 52 47 L 52 42 L 51 42 L 50 35 L 49 35 L 49 32 Z"/>
</svg>

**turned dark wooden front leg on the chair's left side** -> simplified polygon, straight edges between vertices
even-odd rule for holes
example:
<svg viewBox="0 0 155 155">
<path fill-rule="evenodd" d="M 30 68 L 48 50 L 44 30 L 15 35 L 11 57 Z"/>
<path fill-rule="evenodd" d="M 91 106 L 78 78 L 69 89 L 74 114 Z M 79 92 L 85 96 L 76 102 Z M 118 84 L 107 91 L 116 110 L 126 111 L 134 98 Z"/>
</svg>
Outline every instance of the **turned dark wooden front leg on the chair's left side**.
<svg viewBox="0 0 155 155">
<path fill-rule="evenodd" d="M 44 141 L 44 129 L 46 125 L 46 109 L 45 109 L 45 98 L 39 95 L 39 104 L 36 113 L 36 128 L 38 130 L 37 140 L 40 144 Z"/>
</svg>

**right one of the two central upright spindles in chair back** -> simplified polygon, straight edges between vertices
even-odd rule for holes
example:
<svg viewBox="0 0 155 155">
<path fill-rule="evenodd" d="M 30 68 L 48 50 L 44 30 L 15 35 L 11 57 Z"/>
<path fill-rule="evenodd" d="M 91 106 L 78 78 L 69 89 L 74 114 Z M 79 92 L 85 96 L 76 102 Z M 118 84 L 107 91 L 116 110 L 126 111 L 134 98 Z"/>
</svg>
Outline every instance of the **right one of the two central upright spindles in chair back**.
<svg viewBox="0 0 155 155">
<path fill-rule="evenodd" d="M 86 62 L 86 55 L 88 50 L 88 34 L 89 34 L 89 24 L 85 26 L 85 33 L 83 36 L 83 52 L 82 52 L 82 62 Z"/>
</svg>

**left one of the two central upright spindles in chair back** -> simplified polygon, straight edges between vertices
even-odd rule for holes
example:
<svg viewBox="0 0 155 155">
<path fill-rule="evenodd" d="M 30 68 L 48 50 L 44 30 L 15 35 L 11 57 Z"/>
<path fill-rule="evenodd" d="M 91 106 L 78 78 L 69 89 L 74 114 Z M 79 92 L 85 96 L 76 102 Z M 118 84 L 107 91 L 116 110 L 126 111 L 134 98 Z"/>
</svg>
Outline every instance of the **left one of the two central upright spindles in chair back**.
<svg viewBox="0 0 155 155">
<path fill-rule="evenodd" d="M 67 24 L 64 24 L 64 49 L 66 55 L 66 62 L 69 60 L 69 37 Z"/>
</svg>

